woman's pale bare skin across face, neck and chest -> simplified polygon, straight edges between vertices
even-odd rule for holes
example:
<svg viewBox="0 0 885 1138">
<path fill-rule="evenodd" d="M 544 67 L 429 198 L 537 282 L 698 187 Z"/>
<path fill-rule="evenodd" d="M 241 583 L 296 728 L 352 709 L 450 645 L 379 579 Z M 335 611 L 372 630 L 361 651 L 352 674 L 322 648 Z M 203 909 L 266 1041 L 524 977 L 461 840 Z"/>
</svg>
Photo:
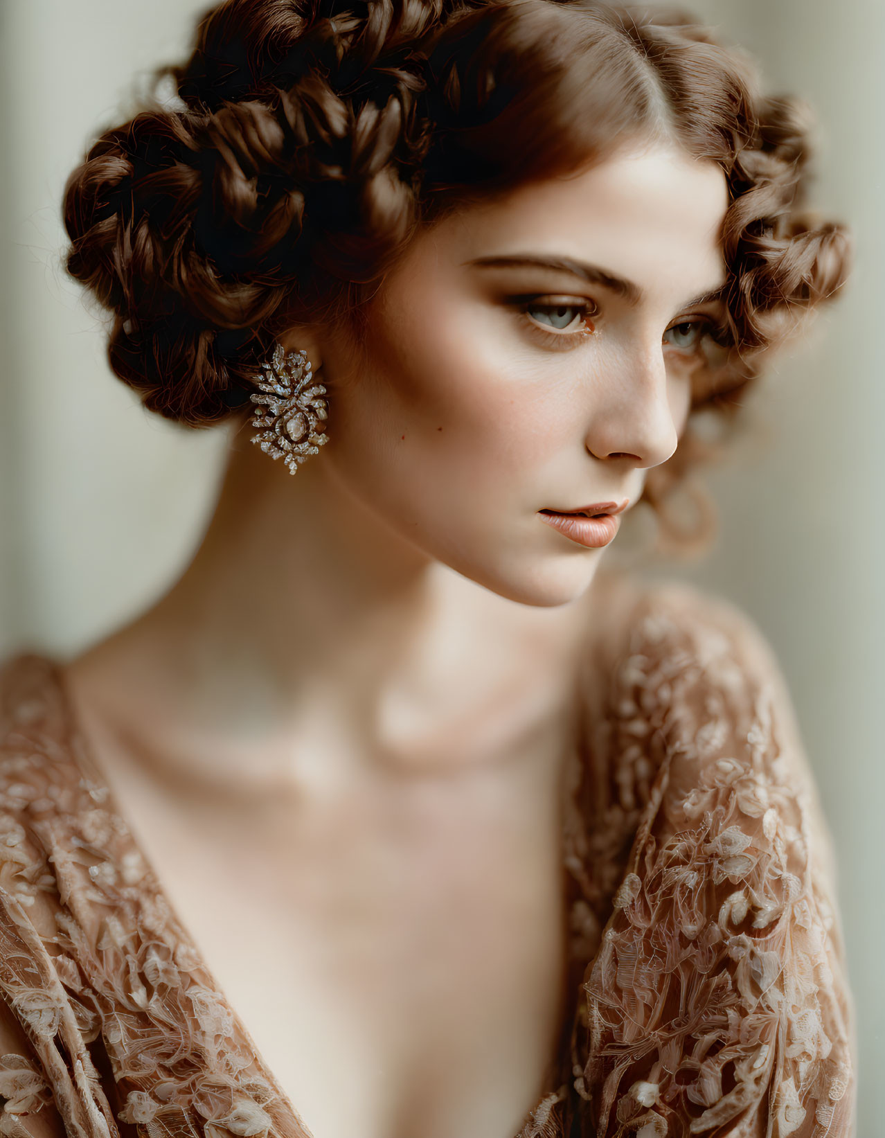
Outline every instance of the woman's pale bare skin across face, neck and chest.
<svg viewBox="0 0 885 1138">
<path fill-rule="evenodd" d="M 654 146 L 422 232 L 365 341 L 283 339 L 326 385 L 328 445 L 291 477 L 239 432 L 181 579 L 64 669 L 314 1138 L 512 1138 L 537 1100 L 605 554 L 538 511 L 632 504 L 676 450 L 727 201 L 718 166 Z M 516 256 L 630 287 L 488 264 Z"/>
</svg>

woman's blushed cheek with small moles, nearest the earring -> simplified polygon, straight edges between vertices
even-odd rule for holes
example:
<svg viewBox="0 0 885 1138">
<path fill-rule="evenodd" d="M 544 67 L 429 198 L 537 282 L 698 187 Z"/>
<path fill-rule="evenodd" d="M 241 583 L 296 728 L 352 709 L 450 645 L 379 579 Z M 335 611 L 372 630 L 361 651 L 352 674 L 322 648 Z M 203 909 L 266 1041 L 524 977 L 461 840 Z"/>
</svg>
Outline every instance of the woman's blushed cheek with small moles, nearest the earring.
<svg viewBox="0 0 885 1138">
<path fill-rule="evenodd" d="M 555 405 L 562 385 L 545 376 L 506 314 L 473 298 L 388 303 L 363 348 L 338 427 L 351 480 L 383 486 L 399 502 L 420 496 L 453 508 L 530 494 L 532 471 L 571 420 Z"/>
</svg>

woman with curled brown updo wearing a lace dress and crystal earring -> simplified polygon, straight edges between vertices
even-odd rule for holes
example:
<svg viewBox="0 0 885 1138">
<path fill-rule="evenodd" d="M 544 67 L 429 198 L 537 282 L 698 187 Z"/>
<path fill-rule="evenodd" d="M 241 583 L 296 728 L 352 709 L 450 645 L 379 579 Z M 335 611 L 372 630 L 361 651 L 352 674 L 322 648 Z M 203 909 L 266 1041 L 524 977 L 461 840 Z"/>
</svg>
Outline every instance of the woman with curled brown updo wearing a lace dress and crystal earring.
<svg viewBox="0 0 885 1138">
<path fill-rule="evenodd" d="M 3 1132 L 851 1135 L 778 665 L 601 567 L 844 279 L 799 110 L 590 0 L 228 0 L 166 74 L 68 269 L 231 455 L 164 597 L 3 669 Z"/>
</svg>

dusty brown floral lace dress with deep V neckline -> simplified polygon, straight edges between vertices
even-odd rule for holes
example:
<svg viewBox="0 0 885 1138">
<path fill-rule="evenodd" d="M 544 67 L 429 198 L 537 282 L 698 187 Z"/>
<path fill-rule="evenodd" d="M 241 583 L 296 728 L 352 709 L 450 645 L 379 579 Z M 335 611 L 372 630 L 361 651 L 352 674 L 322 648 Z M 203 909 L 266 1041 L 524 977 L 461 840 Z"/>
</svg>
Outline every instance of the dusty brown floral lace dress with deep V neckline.
<svg viewBox="0 0 885 1138">
<path fill-rule="evenodd" d="M 623 597 L 582 655 L 571 999 L 520 1138 L 853 1136 L 834 858 L 781 674 L 728 602 Z M 34 653 L 0 670 L 0 1019 L 3 1135 L 309 1138 Z"/>
</svg>

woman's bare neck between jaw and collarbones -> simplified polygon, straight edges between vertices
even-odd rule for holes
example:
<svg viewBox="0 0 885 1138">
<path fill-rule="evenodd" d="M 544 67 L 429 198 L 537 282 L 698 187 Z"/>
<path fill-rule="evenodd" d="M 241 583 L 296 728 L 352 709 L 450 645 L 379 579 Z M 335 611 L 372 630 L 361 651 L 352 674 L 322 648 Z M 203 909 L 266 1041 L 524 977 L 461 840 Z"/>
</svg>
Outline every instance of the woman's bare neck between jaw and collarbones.
<svg viewBox="0 0 885 1138">
<path fill-rule="evenodd" d="M 163 708 L 182 751 L 201 741 L 214 764 L 229 752 L 234 767 L 258 740 L 282 750 L 315 735 L 328 747 L 330 733 L 358 740 L 363 754 L 420 761 L 437 751 L 431 741 L 445 749 L 447 731 L 482 721 L 483 708 L 515 729 L 529 691 L 555 698 L 546 685 L 565 675 L 557 665 L 576 646 L 581 602 L 531 608 L 449 570 L 323 457 L 292 478 L 240 432 L 182 577 L 73 666 L 84 684 L 92 674 L 94 698 L 101 677 L 117 714 L 130 699 Z"/>
</svg>

